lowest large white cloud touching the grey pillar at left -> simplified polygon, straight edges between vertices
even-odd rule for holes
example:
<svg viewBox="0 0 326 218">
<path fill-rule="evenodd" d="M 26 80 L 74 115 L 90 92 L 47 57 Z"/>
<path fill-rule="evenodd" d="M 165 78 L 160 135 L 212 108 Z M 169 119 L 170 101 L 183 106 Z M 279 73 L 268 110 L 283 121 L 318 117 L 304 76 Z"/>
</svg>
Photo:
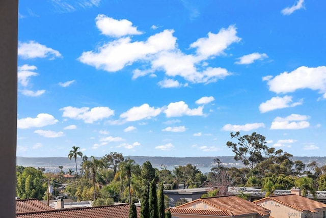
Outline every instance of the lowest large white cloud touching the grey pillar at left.
<svg viewBox="0 0 326 218">
<path fill-rule="evenodd" d="M 17 128 L 18 129 L 27 129 L 31 127 L 43 127 L 47 125 L 56 124 L 58 120 L 56 120 L 50 114 L 38 114 L 36 118 L 22 118 L 17 120 Z"/>
</svg>

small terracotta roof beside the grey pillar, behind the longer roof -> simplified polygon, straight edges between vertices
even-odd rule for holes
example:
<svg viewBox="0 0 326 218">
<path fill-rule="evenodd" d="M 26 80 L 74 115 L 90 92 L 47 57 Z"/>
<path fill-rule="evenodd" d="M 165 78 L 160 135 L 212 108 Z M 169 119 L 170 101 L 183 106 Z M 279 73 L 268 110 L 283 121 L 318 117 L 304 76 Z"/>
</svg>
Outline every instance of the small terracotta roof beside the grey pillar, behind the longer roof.
<svg viewBox="0 0 326 218">
<path fill-rule="evenodd" d="M 16 213 L 28 213 L 37 211 L 52 211 L 52 207 L 40 202 L 37 199 L 19 199 L 16 200 Z"/>
</svg>

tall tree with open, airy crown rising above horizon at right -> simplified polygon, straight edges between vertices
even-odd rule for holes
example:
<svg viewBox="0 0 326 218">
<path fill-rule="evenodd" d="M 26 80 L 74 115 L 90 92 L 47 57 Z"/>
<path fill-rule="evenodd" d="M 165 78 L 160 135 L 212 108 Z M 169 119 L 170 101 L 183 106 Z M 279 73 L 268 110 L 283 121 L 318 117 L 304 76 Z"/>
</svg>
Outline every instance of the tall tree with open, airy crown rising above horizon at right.
<svg viewBox="0 0 326 218">
<path fill-rule="evenodd" d="M 265 156 L 273 154 L 275 149 L 266 146 L 265 137 L 261 134 L 253 132 L 251 135 L 240 135 L 231 132 L 231 139 L 235 138 L 237 143 L 227 142 L 227 146 L 232 148 L 235 153 L 234 159 L 241 160 L 244 166 L 254 169 L 257 163 L 263 161 Z"/>
</svg>

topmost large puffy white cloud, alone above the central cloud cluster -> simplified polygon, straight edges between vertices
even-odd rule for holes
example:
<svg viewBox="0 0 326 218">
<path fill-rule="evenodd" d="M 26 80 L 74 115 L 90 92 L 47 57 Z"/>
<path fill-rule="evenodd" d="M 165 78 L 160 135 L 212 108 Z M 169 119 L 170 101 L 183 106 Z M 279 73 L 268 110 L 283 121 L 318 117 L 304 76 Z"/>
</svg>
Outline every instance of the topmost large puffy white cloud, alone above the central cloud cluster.
<svg viewBox="0 0 326 218">
<path fill-rule="evenodd" d="M 132 26 L 132 22 L 126 19 L 116 20 L 112 17 L 99 14 L 95 20 L 97 28 L 106 36 L 122 37 L 142 34 L 136 27 Z"/>
</svg>

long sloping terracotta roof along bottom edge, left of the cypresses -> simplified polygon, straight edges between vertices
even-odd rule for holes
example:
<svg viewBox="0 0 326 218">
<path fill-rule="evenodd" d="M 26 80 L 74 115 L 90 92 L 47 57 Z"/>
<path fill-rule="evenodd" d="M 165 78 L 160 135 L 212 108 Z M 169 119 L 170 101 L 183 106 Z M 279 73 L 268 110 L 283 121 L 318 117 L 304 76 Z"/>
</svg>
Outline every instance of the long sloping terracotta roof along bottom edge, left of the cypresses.
<svg viewBox="0 0 326 218">
<path fill-rule="evenodd" d="M 137 214 L 140 217 L 140 207 L 137 207 Z M 118 204 L 98 207 L 83 207 L 59 209 L 54 211 L 17 213 L 16 217 L 21 218 L 128 218 L 129 204 Z"/>
</svg>

